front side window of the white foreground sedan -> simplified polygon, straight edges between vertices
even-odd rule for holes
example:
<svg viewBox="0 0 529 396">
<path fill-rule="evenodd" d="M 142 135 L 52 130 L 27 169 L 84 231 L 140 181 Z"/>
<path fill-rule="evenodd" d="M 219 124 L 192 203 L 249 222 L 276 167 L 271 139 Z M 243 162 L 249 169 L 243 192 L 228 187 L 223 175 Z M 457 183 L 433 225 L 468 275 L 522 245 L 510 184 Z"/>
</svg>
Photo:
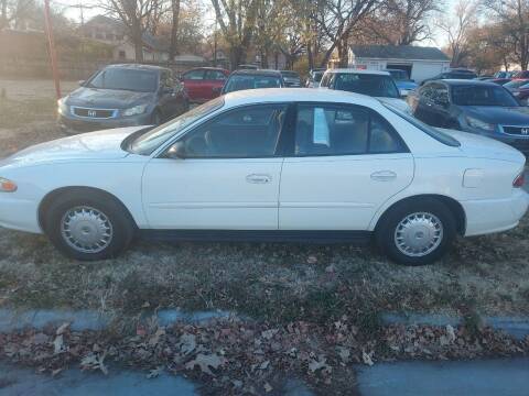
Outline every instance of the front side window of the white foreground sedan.
<svg viewBox="0 0 529 396">
<path fill-rule="evenodd" d="M 183 138 L 192 158 L 269 157 L 276 154 L 287 106 L 228 111 Z"/>
</svg>

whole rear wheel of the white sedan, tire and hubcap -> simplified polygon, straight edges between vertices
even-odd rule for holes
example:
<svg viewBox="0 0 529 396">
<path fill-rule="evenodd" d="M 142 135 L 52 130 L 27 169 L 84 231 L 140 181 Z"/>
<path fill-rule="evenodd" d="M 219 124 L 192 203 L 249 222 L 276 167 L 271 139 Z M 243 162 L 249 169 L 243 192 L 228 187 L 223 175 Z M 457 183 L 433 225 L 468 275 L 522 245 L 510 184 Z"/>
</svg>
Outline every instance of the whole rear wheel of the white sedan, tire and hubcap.
<svg viewBox="0 0 529 396">
<path fill-rule="evenodd" d="M 377 226 L 376 241 L 395 262 L 424 265 L 441 258 L 455 234 L 450 209 L 436 199 L 424 198 L 391 208 Z"/>
</svg>

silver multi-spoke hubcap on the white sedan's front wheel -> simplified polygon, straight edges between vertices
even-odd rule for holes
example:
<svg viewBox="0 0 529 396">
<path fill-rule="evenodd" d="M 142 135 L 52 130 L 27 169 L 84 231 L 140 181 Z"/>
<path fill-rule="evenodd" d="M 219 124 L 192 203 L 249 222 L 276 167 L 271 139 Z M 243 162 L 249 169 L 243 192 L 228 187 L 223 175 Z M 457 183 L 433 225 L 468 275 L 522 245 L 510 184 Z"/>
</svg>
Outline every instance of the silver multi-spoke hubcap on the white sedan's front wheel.
<svg viewBox="0 0 529 396">
<path fill-rule="evenodd" d="M 99 253 L 112 241 L 114 231 L 104 212 L 82 206 L 63 216 L 61 233 L 66 243 L 77 252 Z"/>
</svg>

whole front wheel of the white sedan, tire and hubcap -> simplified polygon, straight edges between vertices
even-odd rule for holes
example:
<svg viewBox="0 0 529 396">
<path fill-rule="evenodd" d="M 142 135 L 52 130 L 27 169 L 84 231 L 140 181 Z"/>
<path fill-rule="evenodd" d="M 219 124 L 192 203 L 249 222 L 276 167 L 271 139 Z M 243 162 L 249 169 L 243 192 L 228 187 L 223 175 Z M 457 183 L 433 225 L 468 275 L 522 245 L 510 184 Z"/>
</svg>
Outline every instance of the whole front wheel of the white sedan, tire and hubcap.
<svg viewBox="0 0 529 396">
<path fill-rule="evenodd" d="M 102 194 L 65 194 L 45 213 L 45 231 L 52 243 L 80 261 L 117 256 L 128 248 L 134 230 L 125 208 Z"/>
</svg>

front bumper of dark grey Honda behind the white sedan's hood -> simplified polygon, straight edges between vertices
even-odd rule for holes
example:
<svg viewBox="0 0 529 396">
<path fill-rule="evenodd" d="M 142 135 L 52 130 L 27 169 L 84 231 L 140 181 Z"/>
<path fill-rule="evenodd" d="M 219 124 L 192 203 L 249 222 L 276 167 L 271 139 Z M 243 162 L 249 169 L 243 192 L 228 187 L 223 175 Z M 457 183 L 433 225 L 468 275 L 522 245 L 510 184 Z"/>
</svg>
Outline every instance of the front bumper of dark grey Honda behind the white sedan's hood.
<svg viewBox="0 0 529 396">
<path fill-rule="evenodd" d="M 77 118 L 69 114 L 58 116 L 58 125 L 61 130 L 67 134 L 93 132 L 122 127 L 148 125 L 150 123 L 151 116 L 149 113 L 112 119 Z"/>
</svg>

